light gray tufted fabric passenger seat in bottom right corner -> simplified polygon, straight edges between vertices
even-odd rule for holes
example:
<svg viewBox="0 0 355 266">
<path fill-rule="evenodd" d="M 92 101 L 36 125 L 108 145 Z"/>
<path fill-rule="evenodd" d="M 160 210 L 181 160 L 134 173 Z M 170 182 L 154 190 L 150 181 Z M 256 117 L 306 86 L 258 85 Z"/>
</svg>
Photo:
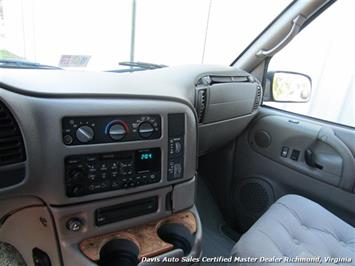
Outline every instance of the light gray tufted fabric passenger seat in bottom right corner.
<svg viewBox="0 0 355 266">
<path fill-rule="evenodd" d="M 232 256 L 241 258 L 320 256 L 323 263 L 325 257 L 351 258 L 352 263 L 348 265 L 354 265 L 355 228 L 309 199 L 286 195 L 275 202 L 240 238 L 232 250 Z M 265 263 L 259 261 L 238 265 L 258 264 Z M 268 265 L 280 263 L 272 262 Z"/>
</svg>

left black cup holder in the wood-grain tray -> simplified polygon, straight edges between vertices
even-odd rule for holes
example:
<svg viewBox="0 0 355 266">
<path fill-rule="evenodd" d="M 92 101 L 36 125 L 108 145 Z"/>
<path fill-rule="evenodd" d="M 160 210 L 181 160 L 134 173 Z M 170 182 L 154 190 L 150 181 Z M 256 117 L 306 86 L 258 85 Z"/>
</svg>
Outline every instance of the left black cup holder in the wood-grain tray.
<svg viewBox="0 0 355 266">
<path fill-rule="evenodd" d="M 100 250 L 100 266 L 137 266 L 138 246 L 127 239 L 112 239 Z"/>
</svg>

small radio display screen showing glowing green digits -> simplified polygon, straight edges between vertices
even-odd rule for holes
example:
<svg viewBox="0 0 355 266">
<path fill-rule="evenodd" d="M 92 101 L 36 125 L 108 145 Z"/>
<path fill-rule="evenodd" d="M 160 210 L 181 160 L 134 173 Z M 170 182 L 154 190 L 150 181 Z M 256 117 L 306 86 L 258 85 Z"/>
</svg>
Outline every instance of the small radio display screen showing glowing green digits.
<svg viewBox="0 0 355 266">
<path fill-rule="evenodd" d="M 137 173 L 160 170 L 161 152 L 159 148 L 136 151 L 135 168 Z"/>
</svg>

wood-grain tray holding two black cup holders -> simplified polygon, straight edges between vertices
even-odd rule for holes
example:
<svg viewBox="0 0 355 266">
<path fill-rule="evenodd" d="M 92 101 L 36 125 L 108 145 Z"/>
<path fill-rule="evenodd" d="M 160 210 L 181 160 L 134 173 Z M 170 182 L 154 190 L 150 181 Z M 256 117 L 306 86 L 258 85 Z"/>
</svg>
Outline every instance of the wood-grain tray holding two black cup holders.
<svg viewBox="0 0 355 266">
<path fill-rule="evenodd" d="M 143 257 L 169 256 L 168 252 L 189 255 L 196 232 L 195 215 L 182 211 L 155 222 L 85 239 L 79 248 L 100 266 L 136 266 Z"/>
</svg>

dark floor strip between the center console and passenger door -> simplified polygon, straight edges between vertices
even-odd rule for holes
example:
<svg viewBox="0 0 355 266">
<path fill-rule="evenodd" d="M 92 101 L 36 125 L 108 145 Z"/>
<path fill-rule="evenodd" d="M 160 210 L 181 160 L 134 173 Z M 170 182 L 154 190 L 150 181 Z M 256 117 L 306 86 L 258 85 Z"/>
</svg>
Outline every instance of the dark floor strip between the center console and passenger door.
<svg viewBox="0 0 355 266">
<path fill-rule="evenodd" d="M 221 226 L 225 224 L 212 194 L 203 179 L 199 177 L 197 187 L 197 209 L 202 222 L 202 250 L 204 257 L 229 257 L 235 242 L 225 236 Z M 204 264 L 201 265 L 211 265 Z M 225 265 L 217 264 L 213 265 Z"/>
</svg>

